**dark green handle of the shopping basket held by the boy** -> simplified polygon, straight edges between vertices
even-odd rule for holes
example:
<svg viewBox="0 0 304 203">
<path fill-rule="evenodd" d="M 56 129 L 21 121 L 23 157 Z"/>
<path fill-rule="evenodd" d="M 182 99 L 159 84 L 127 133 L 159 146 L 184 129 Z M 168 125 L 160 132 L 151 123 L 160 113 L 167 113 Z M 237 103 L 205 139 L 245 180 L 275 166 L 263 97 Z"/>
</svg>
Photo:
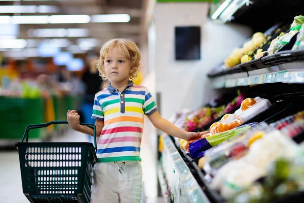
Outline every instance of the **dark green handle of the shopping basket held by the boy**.
<svg viewBox="0 0 304 203">
<path fill-rule="evenodd" d="M 35 129 L 35 128 L 43 128 L 43 127 L 47 127 L 49 125 L 54 125 L 54 124 L 68 124 L 67 121 L 50 121 L 50 122 L 47 122 L 47 123 L 41 123 L 41 124 L 31 124 L 31 125 L 28 125 L 26 126 L 25 128 L 25 131 L 24 131 L 24 134 L 23 134 L 23 137 L 22 137 L 22 140 L 21 142 L 24 141 L 25 137 L 26 137 L 26 142 L 28 142 L 28 131 L 30 129 Z M 86 125 L 92 129 L 94 129 L 94 147 L 95 147 L 95 150 L 97 150 L 97 143 L 96 143 L 96 125 L 93 124 L 93 123 L 80 123 L 81 125 Z"/>
</svg>

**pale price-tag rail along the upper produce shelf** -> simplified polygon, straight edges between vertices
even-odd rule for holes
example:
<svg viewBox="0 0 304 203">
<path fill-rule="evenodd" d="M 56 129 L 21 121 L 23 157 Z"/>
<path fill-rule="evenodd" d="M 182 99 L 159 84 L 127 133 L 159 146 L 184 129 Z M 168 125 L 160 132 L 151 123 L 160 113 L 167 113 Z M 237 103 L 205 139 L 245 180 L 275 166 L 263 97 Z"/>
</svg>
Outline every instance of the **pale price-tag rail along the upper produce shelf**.
<svg viewBox="0 0 304 203">
<path fill-rule="evenodd" d="M 304 70 L 275 71 L 245 77 L 220 77 L 212 80 L 214 89 L 231 88 L 269 83 L 302 83 L 304 84 Z"/>
</svg>

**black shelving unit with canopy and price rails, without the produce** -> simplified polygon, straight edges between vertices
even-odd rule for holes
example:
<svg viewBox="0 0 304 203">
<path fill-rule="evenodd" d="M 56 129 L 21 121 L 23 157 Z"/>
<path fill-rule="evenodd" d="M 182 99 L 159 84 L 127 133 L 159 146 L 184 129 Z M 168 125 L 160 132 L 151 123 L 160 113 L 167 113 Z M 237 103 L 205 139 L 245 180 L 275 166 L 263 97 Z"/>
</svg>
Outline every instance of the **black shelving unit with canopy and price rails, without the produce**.
<svg viewBox="0 0 304 203">
<path fill-rule="evenodd" d="M 212 8 L 214 4 L 211 6 L 210 17 L 212 19 L 245 24 L 250 26 L 253 32 L 264 32 L 267 29 L 279 30 L 276 34 L 285 32 L 286 26 L 291 24 L 294 16 L 304 14 L 302 9 L 304 1 L 301 0 L 295 0 L 292 3 L 287 0 L 226 0 L 220 2 L 221 5 L 217 5 L 217 10 Z M 271 12 L 278 15 L 270 15 Z M 265 16 L 267 13 L 269 15 Z M 282 25 L 284 29 L 279 25 Z M 268 33 L 265 36 L 270 35 L 269 30 L 265 32 Z M 276 36 L 278 35 L 272 37 L 275 39 Z M 262 48 L 265 48 L 263 51 L 268 49 L 267 46 Z M 247 86 L 238 89 L 246 89 L 246 91 L 250 89 L 251 93 L 257 90 L 256 92 L 261 94 L 258 96 L 264 96 L 264 98 L 269 96 L 269 99 L 272 100 L 271 108 L 256 115 L 251 120 L 252 122 L 268 119 L 271 123 L 275 119 L 282 119 L 303 110 L 300 106 L 304 85 L 300 84 L 304 84 L 304 50 L 279 51 L 229 69 L 226 69 L 223 60 L 207 75 L 213 89 L 229 92 L 228 88 Z M 287 97 L 290 98 L 287 99 Z M 300 97 L 301 99 L 299 99 Z M 277 101 L 281 102 L 277 103 Z M 301 136 L 302 134 L 294 140 L 296 141 Z M 208 187 L 207 182 L 210 182 L 208 181 L 210 176 L 200 170 L 197 164 L 198 159 L 192 160 L 181 150 L 177 150 L 168 135 L 163 136 L 163 145 L 160 161 L 163 171 L 159 172 L 159 176 L 167 178 L 170 200 L 173 202 L 225 202 L 218 193 L 211 191 Z"/>
</svg>

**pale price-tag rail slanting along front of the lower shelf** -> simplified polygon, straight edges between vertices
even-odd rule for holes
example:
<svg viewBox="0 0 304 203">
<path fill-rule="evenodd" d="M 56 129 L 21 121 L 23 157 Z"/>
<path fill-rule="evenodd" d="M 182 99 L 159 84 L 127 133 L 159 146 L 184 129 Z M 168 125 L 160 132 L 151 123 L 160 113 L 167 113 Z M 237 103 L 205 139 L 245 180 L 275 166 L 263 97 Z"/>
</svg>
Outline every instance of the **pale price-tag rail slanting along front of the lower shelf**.
<svg viewBox="0 0 304 203">
<path fill-rule="evenodd" d="M 162 151 L 162 166 L 166 174 L 173 202 L 210 202 L 178 153 L 171 138 L 165 135 Z"/>
</svg>

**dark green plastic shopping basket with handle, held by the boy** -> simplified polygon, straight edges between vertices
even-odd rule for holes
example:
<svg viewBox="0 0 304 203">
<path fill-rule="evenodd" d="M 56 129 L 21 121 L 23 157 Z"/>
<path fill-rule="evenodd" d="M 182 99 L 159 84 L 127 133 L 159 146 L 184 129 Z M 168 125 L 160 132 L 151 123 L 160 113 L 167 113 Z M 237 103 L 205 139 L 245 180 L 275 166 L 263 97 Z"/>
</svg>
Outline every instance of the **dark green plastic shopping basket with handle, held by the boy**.
<svg viewBox="0 0 304 203">
<path fill-rule="evenodd" d="M 31 143 L 30 129 L 67 121 L 51 121 L 28 125 L 19 152 L 23 193 L 30 202 L 90 202 L 93 167 L 96 160 L 96 126 L 81 123 L 94 129 L 92 143 Z M 23 142 L 26 138 L 26 142 Z"/>
</svg>

